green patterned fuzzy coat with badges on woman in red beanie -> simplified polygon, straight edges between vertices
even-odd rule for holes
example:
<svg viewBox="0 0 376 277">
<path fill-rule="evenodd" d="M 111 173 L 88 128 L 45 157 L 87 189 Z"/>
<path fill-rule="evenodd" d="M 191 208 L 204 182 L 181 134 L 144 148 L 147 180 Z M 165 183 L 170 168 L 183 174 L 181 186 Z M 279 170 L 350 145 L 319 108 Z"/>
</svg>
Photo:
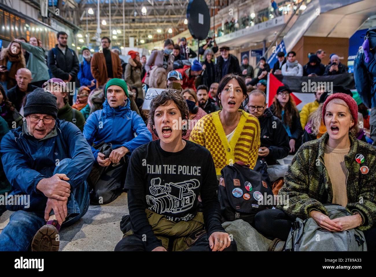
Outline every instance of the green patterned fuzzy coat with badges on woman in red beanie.
<svg viewBox="0 0 376 277">
<path fill-rule="evenodd" d="M 365 231 L 376 221 L 376 149 L 351 134 L 349 137 L 350 151 L 345 155 L 349 171 L 346 209 L 350 213 L 361 213 L 364 223 L 358 229 Z M 328 138 L 329 135 L 325 133 L 320 139 L 300 146 L 288 167 L 284 186 L 279 190 L 279 195 L 288 195 L 288 205 L 278 205 L 277 208 L 293 218 L 306 219 L 312 209 L 327 215 L 323 204 L 331 203 L 333 199 L 332 184 L 324 166 L 324 149 Z M 356 154 L 364 156 L 364 163 L 356 162 Z M 368 174 L 360 172 L 361 166 L 369 168 Z"/>
</svg>

